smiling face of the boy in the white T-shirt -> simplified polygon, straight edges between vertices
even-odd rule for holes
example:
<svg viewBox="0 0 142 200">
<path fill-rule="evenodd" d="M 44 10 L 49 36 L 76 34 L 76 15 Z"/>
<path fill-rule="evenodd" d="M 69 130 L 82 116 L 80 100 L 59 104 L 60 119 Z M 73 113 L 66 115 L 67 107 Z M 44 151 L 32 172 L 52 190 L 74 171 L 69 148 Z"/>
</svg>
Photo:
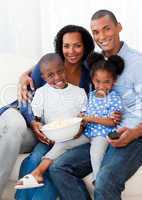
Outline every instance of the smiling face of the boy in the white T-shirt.
<svg viewBox="0 0 142 200">
<path fill-rule="evenodd" d="M 48 65 L 41 65 L 42 77 L 47 83 L 56 89 L 63 89 L 66 87 L 66 75 L 63 63 L 60 60 L 48 62 Z"/>
</svg>

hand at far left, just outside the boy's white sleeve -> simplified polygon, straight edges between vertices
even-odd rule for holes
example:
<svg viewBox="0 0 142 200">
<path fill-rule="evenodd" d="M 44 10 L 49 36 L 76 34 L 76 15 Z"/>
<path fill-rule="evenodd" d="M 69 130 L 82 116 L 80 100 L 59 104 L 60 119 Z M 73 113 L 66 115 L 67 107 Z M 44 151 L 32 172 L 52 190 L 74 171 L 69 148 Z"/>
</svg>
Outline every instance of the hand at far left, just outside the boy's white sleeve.
<svg viewBox="0 0 142 200">
<path fill-rule="evenodd" d="M 31 99 L 31 94 L 28 92 L 28 86 L 34 91 L 34 84 L 32 78 L 28 73 L 23 73 L 19 80 L 18 100 L 27 101 Z"/>
</svg>

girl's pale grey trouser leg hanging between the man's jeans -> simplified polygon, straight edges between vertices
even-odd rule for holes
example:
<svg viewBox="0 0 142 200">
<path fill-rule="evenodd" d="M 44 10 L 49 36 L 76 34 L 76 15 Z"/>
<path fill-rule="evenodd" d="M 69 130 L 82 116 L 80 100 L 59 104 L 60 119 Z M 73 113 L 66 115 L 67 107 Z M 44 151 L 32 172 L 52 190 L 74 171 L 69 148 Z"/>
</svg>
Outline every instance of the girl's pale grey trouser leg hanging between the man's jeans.
<svg viewBox="0 0 142 200">
<path fill-rule="evenodd" d="M 93 169 L 93 181 L 96 180 L 96 175 L 100 169 L 107 146 L 108 142 L 106 138 L 102 136 L 91 138 L 90 156 Z"/>
</svg>

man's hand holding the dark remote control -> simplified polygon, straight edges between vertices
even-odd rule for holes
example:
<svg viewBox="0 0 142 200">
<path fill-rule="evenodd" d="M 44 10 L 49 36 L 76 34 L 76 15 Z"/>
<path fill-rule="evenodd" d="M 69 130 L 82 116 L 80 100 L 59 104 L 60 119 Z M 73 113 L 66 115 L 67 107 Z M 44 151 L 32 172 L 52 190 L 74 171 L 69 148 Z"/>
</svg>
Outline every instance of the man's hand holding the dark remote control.
<svg viewBox="0 0 142 200">
<path fill-rule="evenodd" d="M 120 128 L 117 130 L 117 132 L 120 134 L 119 139 L 111 140 L 109 137 L 107 137 L 107 140 L 109 144 L 111 144 L 113 147 L 125 147 L 130 142 L 135 140 L 135 131 L 134 129 L 130 129 L 127 127 Z"/>
</svg>

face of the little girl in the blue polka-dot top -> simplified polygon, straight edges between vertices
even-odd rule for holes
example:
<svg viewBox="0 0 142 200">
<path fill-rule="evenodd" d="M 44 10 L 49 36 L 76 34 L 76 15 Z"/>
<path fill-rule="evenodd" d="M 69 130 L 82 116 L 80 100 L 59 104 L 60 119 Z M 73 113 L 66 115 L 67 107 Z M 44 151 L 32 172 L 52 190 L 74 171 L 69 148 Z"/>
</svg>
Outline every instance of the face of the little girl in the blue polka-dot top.
<svg viewBox="0 0 142 200">
<path fill-rule="evenodd" d="M 112 74 L 106 70 L 97 70 L 92 78 L 93 85 L 95 87 L 98 96 L 106 96 L 112 89 L 115 80 Z"/>
</svg>

